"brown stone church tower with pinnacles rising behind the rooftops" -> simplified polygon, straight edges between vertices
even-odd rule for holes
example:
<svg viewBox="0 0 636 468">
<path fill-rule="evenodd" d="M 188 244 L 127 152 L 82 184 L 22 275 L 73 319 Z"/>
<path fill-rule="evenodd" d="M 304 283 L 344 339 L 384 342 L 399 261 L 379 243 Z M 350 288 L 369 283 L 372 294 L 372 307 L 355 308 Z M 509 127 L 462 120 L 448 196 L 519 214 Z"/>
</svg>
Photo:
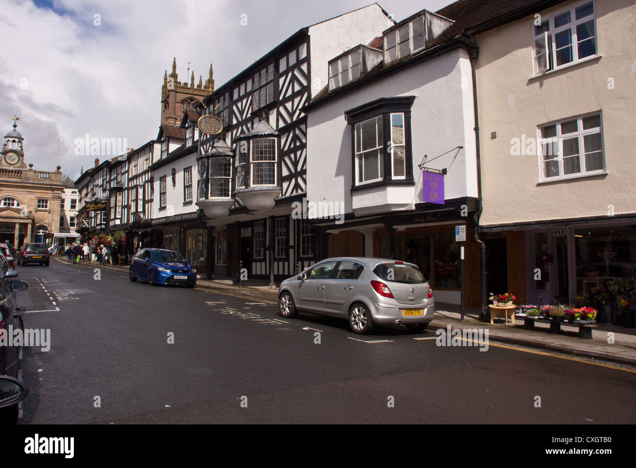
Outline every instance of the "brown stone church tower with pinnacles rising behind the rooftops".
<svg viewBox="0 0 636 468">
<path fill-rule="evenodd" d="M 212 64 L 210 64 L 209 78 L 203 83 L 203 77 L 199 76 L 198 84 L 195 86 L 195 74 L 192 72 L 190 83 L 179 82 L 177 74 L 177 58 L 172 60 L 172 72 L 168 74 L 166 70 L 163 74 L 163 86 L 161 89 L 162 127 L 170 125 L 172 127 L 181 124 L 181 118 L 186 109 L 193 107 L 193 104 L 200 101 L 205 96 L 214 91 L 214 79 L 212 78 Z"/>
</svg>

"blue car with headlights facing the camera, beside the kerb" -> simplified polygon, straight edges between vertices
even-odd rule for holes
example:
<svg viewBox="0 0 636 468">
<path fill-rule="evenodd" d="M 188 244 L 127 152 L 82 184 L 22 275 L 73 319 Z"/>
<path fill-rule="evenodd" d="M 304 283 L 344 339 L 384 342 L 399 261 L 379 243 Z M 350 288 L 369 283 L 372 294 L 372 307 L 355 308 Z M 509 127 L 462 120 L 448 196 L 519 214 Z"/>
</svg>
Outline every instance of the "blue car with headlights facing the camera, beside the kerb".
<svg viewBox="0 0 636 468">
<path fill-rule="evenodd" d="M 189 288 L 197 284 L 197 270 L 190 260 L 174 250 L 162 248 L 142 248 L 132 257 L 128 269 L 130 281 L 146 280 L 154 285 L 186 285 Z"/>
</svg>

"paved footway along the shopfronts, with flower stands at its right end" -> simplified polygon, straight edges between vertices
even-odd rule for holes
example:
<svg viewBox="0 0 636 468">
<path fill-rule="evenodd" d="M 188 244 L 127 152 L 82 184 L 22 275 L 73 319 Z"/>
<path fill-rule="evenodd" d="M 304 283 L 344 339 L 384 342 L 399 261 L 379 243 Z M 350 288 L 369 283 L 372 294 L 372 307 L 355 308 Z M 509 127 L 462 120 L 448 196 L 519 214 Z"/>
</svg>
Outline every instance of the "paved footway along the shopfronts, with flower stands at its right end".
<svg viewBox="0 0 636 468">
<path fill-rule="evenodd" d="M 66 257 L 53 257 L 55 260 L 66 263 Z M 113 271 L 128 273 L 128 266 L 106 265 L 85 262 L 79 266 L 90 268 L 104 268 Z M 214 275 L 214 279 L 199 278 L 197 287 L 214 290 L 219 294 L 235 297 L 249 297 L 270 304 L 277 303 L 279 283 L 275 288 L 270 288 L 267 280 L 246 280 L 242 285 L 235 285 L 234 278 Z M 523 328 L 523 319 L 516 318 L 513 324 L 510 320 L 507 324 L 502 322 L 504 318 L 497 318 L 495 322 L 481 322 L 479 315 L 481 309 L 465 308 L 464 321 L 460 315 L 460 306 L 436 302 L 435 318 L 428 330 L 452 328 L 483 328 L 488 329 L 490 341 L 511 343 L 530 348 L 558 351 L 560 353 L 576 355 L 586 358 L 618 362 L 621 364 L 636 365 L 636 328 L 625 328 L 616 325 L 598 324 L 592 325 L 592 339 L 581 339 L 577 336 L 578 325 L 562 323 L 560 334 L 550 334 L 550 324 L 536 322 L 535 330 Z"/>
</svg>

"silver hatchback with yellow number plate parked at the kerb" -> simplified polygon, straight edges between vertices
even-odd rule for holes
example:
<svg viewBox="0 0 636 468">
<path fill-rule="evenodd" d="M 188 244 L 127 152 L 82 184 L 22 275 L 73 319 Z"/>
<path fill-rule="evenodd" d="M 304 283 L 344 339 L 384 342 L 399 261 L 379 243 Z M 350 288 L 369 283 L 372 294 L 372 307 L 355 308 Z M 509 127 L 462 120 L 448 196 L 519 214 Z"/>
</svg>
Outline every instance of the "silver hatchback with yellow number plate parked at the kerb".
<svg viewBox="0 0 636 468">
<path fill-rule="evenodd" d="M 433 319 L 435 303 L 414 264 L 342 257 L 322 260 L 280 283 L 279 315 L 292 318 L 298 311 L 347 318 L 356 333 L 390 323 L 422 332 Z"/>
</svg>

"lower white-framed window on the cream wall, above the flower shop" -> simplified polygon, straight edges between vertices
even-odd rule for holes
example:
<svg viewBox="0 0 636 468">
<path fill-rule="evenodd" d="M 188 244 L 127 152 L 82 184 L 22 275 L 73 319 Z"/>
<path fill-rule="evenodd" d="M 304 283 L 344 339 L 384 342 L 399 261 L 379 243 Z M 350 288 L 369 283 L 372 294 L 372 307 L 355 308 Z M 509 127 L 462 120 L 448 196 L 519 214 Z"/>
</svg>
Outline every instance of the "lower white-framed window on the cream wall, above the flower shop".
<svg viewBox="0 0 636 468">
<path fill-rule="evenodd" d="M 569 118 L 539 127 L 541 180 L 604 173 L 601 115 Z"/>
</svg>

